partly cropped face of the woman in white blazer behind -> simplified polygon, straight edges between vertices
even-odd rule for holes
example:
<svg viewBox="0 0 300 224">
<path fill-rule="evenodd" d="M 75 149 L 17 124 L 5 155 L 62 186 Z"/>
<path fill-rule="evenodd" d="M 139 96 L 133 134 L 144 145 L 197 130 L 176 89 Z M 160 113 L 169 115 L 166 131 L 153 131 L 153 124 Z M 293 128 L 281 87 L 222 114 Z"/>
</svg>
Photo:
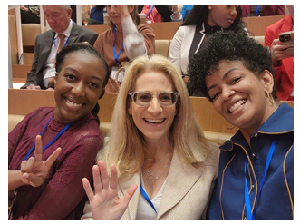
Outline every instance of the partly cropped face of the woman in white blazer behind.
<svg viewBox="0 0 300 224">
<path fill-rule="evenodd" d="M 237 18 L 237 5 L 208 5 L 208 24 L 227 29 Z"/>
</svg>

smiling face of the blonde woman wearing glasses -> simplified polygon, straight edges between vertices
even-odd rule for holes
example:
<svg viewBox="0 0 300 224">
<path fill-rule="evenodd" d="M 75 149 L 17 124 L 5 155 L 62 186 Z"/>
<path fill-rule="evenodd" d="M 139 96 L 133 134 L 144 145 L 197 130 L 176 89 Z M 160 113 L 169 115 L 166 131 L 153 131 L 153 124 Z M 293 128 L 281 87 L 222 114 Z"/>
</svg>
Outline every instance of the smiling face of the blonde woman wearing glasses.
<svg viewBox="0 0 300 224">
<path fill-rule="evenodd" d="M 143 134 L 145 140 L 168 140 L 169 127 L 176 114 L 176 103 L 171 106 L 160 106 L 156 96 L 160 92 L 173 92 L 174 86 L 164 73 L 147 72 L 139 76 L 135 83 L 134 92 L 147 91 L 153 99 L 149 106 L 139 106 L 131 102 L 129 114 L 133 122 Z"/>
</svg>

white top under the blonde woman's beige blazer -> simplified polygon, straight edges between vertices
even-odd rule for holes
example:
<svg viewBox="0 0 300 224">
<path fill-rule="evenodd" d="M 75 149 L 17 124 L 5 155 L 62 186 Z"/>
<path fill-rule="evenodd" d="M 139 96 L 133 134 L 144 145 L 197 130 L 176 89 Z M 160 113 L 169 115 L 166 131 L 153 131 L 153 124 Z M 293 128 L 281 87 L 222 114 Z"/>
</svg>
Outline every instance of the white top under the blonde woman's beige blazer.
<svg viewBox="0 0 300 224">
<path fill-rule="evenodd" d="M 144 180 L 142 178 L 142 174 L 140 175 L 140 177 L 141 177 L 141 181 L 140 181 L 141 187 L 147 193 L 147 190 L 146 190 L 145 184 L 144 184 Z M 154 205 L 154 208 L 157 210 L 157 212 L 159 212 L 159 209 L 160 209 L 160 201 L 162 198 L 162 192 L 165 189 L 167 179 L 168 178 L 166 178 L 165 182 L 162 184 L 158 194 L 153 199 L 151 199 L 151 202 Z M 156 220 L 156 218 L 157 218 L 157 214 L 155 213 L 154 209 L 152 209 L 152 207 L 150 206 L 148 201 L 144 198 L 144 196 L 142 196 L 142 194 L 140 192 L 136 219 L 137 220 Z"/>
</svg>

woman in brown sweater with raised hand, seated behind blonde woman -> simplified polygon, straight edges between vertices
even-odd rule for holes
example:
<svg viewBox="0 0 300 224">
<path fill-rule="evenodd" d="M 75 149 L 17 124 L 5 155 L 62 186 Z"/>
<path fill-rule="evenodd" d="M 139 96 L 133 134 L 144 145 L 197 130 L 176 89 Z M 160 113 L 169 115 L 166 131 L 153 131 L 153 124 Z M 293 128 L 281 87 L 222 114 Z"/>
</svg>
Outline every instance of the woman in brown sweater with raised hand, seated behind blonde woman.
<svg viewBox="0 0 300 224">
<path fill-rule="evenodd" d="M 94 47 L 107 62 L 111 73 L 110 82 L 113 82 L 122 62 L 154 54 L 155 34 L 149 25 L 140 24 L 136 5 L 107 5 L 106 10 L 111 29 L 99 34 Z M 106 91 L 114 92 L 111 88 Z"/>
</svg>

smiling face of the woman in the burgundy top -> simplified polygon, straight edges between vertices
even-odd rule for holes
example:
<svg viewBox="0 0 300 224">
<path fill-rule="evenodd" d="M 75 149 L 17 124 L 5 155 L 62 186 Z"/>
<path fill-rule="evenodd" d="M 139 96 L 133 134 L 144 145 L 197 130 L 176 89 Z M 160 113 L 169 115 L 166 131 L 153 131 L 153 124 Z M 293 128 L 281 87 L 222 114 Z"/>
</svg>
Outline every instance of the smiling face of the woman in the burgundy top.
<svg viewBox="0 0 300 224">
<path fill-rule="evenodd" d="M 105 70 L 96 56 L 82 51 L 68 54 L 55 76 L 55 120 L 73 122 L 91 112 L 103 91 L 104 77 Z"/>
</svg>

